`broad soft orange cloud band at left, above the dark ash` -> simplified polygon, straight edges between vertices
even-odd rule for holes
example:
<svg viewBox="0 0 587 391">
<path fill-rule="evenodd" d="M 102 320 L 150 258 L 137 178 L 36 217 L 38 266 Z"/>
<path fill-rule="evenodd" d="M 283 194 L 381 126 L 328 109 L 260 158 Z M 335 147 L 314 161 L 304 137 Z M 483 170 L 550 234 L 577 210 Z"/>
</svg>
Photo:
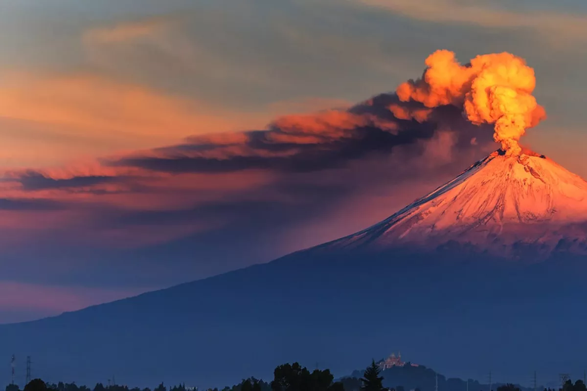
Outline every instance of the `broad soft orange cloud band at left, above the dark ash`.
<svg viewBox="0 0 587 391">
<path fill-rule="evenodd" d="M 0 134 L 6 141 L 0 146 L 0 166 L 57 165 L 156 147 L 198 133 L 263 127 L 271 116 L 96 74 L 5 73 Z"/>
</svg>

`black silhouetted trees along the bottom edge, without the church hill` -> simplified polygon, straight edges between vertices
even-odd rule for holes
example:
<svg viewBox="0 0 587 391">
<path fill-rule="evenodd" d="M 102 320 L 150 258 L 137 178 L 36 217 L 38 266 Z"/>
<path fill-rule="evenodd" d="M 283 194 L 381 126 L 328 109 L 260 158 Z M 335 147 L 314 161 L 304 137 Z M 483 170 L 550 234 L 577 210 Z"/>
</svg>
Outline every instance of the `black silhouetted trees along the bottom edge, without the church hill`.
<svg viewBox="0 0 587 391">
<path fill-rule="evenodd" d="M 387 372 L 387 371 L 386 371 Z M 360 373 L 360 372 L 359 372 Z M 355 375 L 355 373 L 353 373 Z M 334 376 L 329 369 L 308 370 L 299 363 L 280 365 L 274 370 L 274 379 L 265 382 L 262 379 L 243 379 L 233 386 L 226 386 L 222 389 L 214 388 L 207 391 L 406 391 L 403 386 L 384 387 L 382 372 L 373 361 L 363 372 L 362 377 L 342 378 L 335 382 Z M 447 384 L 448 386 L 448 384 Z M 440 389 L 440 387 L 438 387 Z M 420 391 L 420 387 L 412 388 L 410 391 Z M 471 389 L 475 390 L 475 389 Z M 17 385 L 6 386 L 6 391 L 21 391 Z M 167 387 L 163 383 L 155 387 L 140 389 L 139 387 L 129 388 L 128 386 L 108 385 L 98 383 L 93 389 L 86 386 L 78 386 L 75 383 L 45 383 L 41 379 L 34 379 L 29 382 L 23 391 L 198 391 L 193 387 L 177 385 Z M 446 387 L 441 391 L 459 391 L 455 387 Z M 494 390 L 490 390 L 494 391 Z M 519 386 L 505 384 L 497 387 L 495 391 L 522 391 Z M 573 383 L 567 380 L 562 388 L 544 389 L 544 391 L 587 391 L 583 380 L 576 380 Z"/>
</svg>

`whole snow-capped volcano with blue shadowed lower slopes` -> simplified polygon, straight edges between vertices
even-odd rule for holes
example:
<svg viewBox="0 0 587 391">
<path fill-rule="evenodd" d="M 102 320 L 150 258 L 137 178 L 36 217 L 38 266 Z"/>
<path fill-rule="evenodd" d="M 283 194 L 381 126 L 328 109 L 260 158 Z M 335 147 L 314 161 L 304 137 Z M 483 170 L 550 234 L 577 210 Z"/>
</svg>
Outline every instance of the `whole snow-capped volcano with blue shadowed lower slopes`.
<svg viewBox="0 0 587 391">
<path fill-rule="evenodd" d="M 93 385 L 221 386 L 284 362 L 345 375 L 401 349 L 455 376 L 585 365 L 587 183 L 495 152 L 362 232 L 82 311 L 0 327 L 0 356 Z M 9 371 L 2 371 L 5 376 Z M 2 378 L 8 382 L 9 379 Z"/>
</svg>

